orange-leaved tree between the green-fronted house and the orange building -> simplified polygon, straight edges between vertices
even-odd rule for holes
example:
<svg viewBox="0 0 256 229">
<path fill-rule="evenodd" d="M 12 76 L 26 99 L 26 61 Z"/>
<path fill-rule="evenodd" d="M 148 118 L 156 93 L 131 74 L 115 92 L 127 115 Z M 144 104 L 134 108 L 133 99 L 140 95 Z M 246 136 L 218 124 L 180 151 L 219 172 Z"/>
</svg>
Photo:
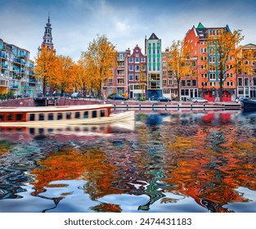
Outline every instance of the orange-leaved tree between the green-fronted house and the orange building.
<svg viewBox="0 0 256 229">
<path fill-rule="evenodd" d="M 177 101 L 180 101 L 180 82 L 182 77 L 191 76 L 191 61 L 188 50 L 184 46 L 184 41 L 173 41 L 167 52 L 166 66 L 168 75 L 177 79 Z"/>
</svg>

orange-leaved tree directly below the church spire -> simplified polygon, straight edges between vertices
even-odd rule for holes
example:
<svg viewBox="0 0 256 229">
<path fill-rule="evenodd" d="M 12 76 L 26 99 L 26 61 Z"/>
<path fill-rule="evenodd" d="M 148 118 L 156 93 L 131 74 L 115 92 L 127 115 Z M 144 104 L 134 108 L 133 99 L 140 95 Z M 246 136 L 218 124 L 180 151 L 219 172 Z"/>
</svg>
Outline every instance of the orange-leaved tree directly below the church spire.
<svg viewBox="0 0 256 229">
<path fill-rule="evenodd" d="M 56 52 L 42 47 L 38 52 L 38 58 L 36 58 L 36 66 L 34 69 L 35 75 L 38 79 L 43 79 L 43 93 L 46 92 L 47 83 L 53 81 L 56 74 Z"/>
</svg>

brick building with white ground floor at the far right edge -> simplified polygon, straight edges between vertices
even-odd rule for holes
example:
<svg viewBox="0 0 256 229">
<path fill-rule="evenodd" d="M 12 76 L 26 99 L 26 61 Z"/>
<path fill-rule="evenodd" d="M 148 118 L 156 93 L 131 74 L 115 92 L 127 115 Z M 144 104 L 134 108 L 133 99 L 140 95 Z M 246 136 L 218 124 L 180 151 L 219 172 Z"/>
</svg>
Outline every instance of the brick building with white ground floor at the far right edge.
<svg viewBox="0 0 256 229">
<path fill-rule="evenodd" d="M 244 64 L 248 65 L 252 71 L 246 72 L 238 68 L 237 70 L 237 96 L 256 97 L 256 45 L 249 43 L 242 48 L 242 56 L 245 58 Z M 249 56 L 245 56 L 250 52 Z"/>
</svg>

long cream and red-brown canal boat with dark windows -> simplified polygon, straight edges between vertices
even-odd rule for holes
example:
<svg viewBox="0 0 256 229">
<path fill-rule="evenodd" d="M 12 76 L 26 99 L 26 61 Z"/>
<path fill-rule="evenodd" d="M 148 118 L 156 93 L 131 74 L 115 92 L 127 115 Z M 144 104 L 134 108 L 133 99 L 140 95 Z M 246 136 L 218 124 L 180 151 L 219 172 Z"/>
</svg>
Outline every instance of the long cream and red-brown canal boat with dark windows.
<svg viewBox="0 0 256 229">
<path fill-rule="evenodd" d="M 0 107 L 0 126 L 45 127 L 134 121 L 134 111 L 111 114 L 113 105 Z"/>
</svg>

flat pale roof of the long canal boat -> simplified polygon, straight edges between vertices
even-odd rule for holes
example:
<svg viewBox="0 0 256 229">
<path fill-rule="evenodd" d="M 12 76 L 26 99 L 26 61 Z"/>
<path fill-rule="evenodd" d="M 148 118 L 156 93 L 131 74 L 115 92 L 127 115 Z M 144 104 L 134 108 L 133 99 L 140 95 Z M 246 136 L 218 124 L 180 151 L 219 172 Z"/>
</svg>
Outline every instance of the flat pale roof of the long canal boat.
<svg viewBox="0 0 256 229">
<path fill-rule="evenodd" d="M 57 111 L 75 111 L 75 110 L 96 110 L 101 108 L 111 108 L 112 104 L 95 104 L 95 105 L 78 105 L 78 106 L 19 106 L 19 107 L 7 107 L 1 106 L 1 112 L 57 112 Z"/>
</svg>

